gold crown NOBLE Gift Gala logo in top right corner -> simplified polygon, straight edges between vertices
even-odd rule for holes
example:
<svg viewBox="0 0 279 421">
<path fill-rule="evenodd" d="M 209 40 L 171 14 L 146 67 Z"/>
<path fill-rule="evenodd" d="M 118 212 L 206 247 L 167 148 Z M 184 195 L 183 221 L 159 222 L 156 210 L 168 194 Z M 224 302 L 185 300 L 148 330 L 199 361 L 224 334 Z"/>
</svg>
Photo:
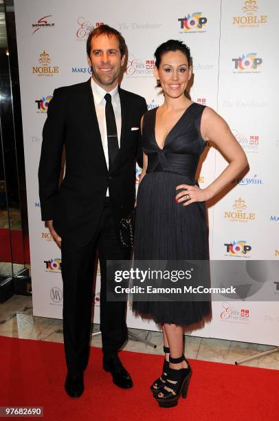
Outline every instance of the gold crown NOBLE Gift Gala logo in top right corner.
<svg viewBox="0 0 279 421">
<path fill-rule="evenodd" d="M 266 14 L 257 14 L 256 0 L 247 0 L 242 8 L 243 14 L 232 18 L 232 24 L 239 28 L 256 28 L 262 23 L 267 23 Z"/>
</svg>

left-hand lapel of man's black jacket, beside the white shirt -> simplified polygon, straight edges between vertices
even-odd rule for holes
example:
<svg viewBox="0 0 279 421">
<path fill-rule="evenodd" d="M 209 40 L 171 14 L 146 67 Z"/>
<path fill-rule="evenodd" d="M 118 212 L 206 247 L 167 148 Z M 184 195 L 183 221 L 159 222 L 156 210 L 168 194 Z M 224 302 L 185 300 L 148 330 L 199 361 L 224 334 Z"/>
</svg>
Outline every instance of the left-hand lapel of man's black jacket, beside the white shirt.
<svg viewBox="0 0 279 421">
<path fill-rule="evenodd" d="M 93 133 L 93 142 L 95 143 L 94 146 L 98 151 L 102 165 L 107 169 L 107 162 L 104 156 L 104 148 L 102 147 L 100 127 L 98 124 L 94 97 L 91 89 L 91 78 L 85 83 L 85 110 L 88 111 L 87 126 L 89 127 L 89 133 Z"/>
</svg>

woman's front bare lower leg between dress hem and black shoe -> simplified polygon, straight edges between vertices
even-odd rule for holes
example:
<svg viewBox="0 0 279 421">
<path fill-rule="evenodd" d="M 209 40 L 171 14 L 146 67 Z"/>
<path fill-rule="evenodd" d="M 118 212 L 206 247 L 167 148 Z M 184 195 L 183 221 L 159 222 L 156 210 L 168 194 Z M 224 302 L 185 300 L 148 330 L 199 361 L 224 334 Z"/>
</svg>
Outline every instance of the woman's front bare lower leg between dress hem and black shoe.
<svg viewBox="0 0 279 421">
<path fill-rule="evenodd" d="M 170 348 L 170 356 L 172 358 L 179 358 L 183 355 L 183 329 L 181 326 L 174 324 L 164 323 L 163 326 L 163 335 L 166 335 L 166 342 Z M 164 336 L 165 343 L 165 336 Z M 182 363 L 173 364 L 170 363 L 170 368 L 172 369 L 182 369 L 187 368 L 188 364 L 184 360 Z"/>
</svg>

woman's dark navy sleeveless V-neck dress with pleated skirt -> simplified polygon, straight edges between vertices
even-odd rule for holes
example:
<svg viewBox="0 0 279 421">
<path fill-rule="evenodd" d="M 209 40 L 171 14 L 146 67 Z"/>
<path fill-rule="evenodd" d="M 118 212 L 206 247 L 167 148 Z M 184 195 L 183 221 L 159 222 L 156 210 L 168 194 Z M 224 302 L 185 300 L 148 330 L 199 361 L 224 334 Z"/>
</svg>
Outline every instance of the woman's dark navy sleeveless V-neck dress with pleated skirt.
<svg viewBox="0 0 279 421">
<path fill-rule="evenodd" d="M 176 186 L 194 180 L 206 142 L 201 137 L 203 105 L 193 102 L 166 136 L 164 148 L 155 140 L 157 109 L 144 115 L 142 147 L 148 156 L 146 175 L 137 192 L 135 260 L 207 260 L 205 203 L 175 202 Z M 197 184 L 198 185 L 198 184 Z M 208 301 L 134 301 L 133 310 L 155 323 L 187 326 L 208 316 Z"/>
</svg>

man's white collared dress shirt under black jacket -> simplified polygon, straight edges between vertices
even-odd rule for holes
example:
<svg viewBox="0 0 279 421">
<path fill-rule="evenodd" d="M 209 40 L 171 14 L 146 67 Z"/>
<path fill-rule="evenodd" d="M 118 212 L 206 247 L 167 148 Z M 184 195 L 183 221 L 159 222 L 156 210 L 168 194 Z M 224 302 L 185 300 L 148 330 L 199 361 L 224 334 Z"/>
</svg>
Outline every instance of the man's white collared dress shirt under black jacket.
<svg viewBox="0 0 279 421">
<path fill-rule="evenodd" d="M 107 168 L 109 169 L 109 149 L 107 142 L 107 122 L 106 122 L 106 103 L 104 99 L 106 94 L 111 94 L 111 104 L 115 115 L 116 128 L 118 130 L 118 146 L 120 147 L 121 136 L 121 105 L 118 92 L 118 85 L 112 91 L 105 91 L 91 78 L 91 89 L 94 98 L 96 114 L 98 118 L 99 129 L 102 139 L 102 147 L 104 149 L 104 158 L 106 158 Z M 109 188 L 107 189 L 107 196 L 109 196 Z"/>
</svg>

